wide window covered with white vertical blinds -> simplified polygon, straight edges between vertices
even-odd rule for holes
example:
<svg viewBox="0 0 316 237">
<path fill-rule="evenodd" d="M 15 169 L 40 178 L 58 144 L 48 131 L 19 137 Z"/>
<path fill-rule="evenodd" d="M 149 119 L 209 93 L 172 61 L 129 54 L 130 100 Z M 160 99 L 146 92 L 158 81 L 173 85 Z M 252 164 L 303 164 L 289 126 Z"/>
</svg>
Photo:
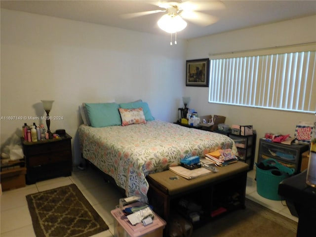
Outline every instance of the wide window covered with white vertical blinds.
<svg viewBox="0 0 316 237">
<path fill-rule="evenodd" d="M 210 58 L 209 102 L 315 113 L 316 51 Z"/>
</svg>

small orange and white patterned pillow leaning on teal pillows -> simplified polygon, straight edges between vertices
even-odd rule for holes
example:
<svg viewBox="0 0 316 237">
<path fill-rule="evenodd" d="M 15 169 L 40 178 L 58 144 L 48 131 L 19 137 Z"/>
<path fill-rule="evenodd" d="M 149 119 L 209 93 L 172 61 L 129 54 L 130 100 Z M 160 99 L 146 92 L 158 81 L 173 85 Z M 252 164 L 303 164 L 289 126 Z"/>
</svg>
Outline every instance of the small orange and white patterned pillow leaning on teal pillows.
<svg viewBox="0 0 316 237">
<path fill-rule="evenodd" d="M 122 119 L 122 126 L 129 124 L 146 123 L 143 108 L 137 109 L 122 109 L 118 108 L 120 118 Z"/>
</svg>

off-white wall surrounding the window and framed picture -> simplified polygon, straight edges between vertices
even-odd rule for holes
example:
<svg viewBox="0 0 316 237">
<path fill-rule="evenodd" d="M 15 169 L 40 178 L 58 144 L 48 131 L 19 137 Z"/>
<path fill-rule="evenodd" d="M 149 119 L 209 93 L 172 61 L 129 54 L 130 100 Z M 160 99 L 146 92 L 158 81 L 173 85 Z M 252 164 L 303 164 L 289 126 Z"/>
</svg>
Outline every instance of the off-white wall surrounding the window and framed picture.
<svg viewBox="0 0 316 237">
<path fill-rule="evenodd" d="M 275 47 L 316 41 L 316 16 L 262 25 L 213 36 L 189 40 L 187 60 L 208 58 L 209 53 Z M 185 95 L 191 96 L 190 108 L 199 115 L 226 116 L 226 124 L 253 124 L 257 138 L 266 132 L 291 134 L 299 121 L 314 121 L 315 115 L 247 108 L 208 103 L 208 88 L 186 87 Z M 257 151 L 258 151 L 257 139 Z M 256 151 L 256 153 L 257 153 Z"/>
</svg>

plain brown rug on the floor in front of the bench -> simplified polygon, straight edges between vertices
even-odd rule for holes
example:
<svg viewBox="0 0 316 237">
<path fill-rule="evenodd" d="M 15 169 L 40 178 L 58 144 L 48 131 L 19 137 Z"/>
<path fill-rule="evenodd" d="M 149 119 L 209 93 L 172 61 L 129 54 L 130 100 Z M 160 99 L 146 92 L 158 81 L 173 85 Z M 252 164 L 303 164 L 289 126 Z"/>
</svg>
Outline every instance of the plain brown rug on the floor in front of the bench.
<svg viewBox="0 0 316 237">
<path fill-rule="evenodd" d="M 193 237 L 296 237 L 297 222 L 254 201 L 193 231 Z"/>
</svg>

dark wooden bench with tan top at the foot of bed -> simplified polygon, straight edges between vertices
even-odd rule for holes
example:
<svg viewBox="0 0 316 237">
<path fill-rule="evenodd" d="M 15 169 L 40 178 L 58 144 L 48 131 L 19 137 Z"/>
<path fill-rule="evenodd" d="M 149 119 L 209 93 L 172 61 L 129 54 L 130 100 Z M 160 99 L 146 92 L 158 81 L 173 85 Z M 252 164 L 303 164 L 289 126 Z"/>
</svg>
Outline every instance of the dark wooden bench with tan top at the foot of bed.
<svg viewBox="0 0 316 237">
<path fill-rule="evenodd" d="M 215 218 L 218 209 L 225 207 L 228 213 L 234 209 L 245 208 L 245 189 L 248 164 L 238 161 L 224 167 L 218 167 L 217 173 L 210 173 L 191 180 L 183 177 L 170 179 L 177 176 L 174 172 L 166 170 L 147 176 L 149 183 L 148 198 L 155 212 L 167 223 L 164 236 L 168 234 L 169 216 L 172 209 L 176 209 L 179 199 L 196 197 L 202 205 L 203 216 L 198 223 L 193 223 L 194 228 L 205 224 Z M 233 203 L 219 203 L 219 200 L 235 197 Z M 237 199 L 236 199 L 237 198 Z M 232 199 L 233 200 L 233 199 Z M 221 208 L 223 210 L 223 208 Z"/>
</svg>

